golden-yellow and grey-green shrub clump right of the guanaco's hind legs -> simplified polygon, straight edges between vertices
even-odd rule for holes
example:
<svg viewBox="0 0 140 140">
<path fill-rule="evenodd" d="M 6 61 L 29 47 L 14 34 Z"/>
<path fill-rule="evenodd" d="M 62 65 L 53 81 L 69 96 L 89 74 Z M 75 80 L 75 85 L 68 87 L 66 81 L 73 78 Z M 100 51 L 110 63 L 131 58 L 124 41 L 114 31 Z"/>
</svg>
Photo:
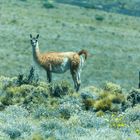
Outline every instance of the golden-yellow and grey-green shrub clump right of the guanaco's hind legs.
<svg viewBox="0 0 140 140">
<path fill-rule="evenodd" d="M 87 90 L 88 91 L 88 90 Z M 86 110 L 121 111 L 126 102 L 125 95 L 119 85 L 106 83 L 103 90 L 89 90 L 81 94 Z"/>
</svg>

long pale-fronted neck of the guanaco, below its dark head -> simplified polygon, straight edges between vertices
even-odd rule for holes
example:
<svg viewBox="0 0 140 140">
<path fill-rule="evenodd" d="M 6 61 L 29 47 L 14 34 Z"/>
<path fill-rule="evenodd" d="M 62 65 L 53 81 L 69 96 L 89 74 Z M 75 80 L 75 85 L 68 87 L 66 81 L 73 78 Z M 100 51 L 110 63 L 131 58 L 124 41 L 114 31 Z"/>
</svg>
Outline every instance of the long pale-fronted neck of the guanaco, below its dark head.
<svg viewBox="0 0 140 140">
<path fill-rule="evenodd" d="M 37 42 L 36 46 L 35 47 L 33 46 L 32 48 L 33 48 L 33 58 L 40 65 L 41 64 L 41 53 L 39 50 L 38 42 Z"/>
</svg>

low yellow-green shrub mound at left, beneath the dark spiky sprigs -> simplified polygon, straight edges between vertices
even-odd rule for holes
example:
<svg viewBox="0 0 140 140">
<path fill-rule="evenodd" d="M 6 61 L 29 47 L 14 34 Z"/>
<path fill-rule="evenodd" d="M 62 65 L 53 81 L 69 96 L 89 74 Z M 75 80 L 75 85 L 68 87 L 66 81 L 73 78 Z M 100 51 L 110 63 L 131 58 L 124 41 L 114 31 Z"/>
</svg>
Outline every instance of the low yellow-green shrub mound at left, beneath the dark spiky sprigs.
<svg viewBox="0 0 140 140">
<path fill-rule="evenodd" d="M 45 102 L 48 97 L 47 87 L 33 85 L 21 85 L 8 87 L 0 98 L 0 101 L 4 105 L 14 104 L 28 104 L 31 101 L 42 103 Z"/>
</svg>

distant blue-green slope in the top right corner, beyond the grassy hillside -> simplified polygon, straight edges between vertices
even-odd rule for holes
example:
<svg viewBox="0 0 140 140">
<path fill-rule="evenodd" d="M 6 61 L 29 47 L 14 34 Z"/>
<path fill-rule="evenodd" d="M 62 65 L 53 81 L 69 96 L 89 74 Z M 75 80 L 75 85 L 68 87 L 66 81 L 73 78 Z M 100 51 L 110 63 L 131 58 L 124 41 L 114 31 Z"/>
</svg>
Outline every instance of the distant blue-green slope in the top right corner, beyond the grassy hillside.
<svg viewBox="0 0 140 140">
<path fill-rule="evenodd" d="M 60 3 L 77 5 L 85 8 L 100 9 L 131 16 L 140 16 L 139 0 L 56 0 Z"/>
</svg>

